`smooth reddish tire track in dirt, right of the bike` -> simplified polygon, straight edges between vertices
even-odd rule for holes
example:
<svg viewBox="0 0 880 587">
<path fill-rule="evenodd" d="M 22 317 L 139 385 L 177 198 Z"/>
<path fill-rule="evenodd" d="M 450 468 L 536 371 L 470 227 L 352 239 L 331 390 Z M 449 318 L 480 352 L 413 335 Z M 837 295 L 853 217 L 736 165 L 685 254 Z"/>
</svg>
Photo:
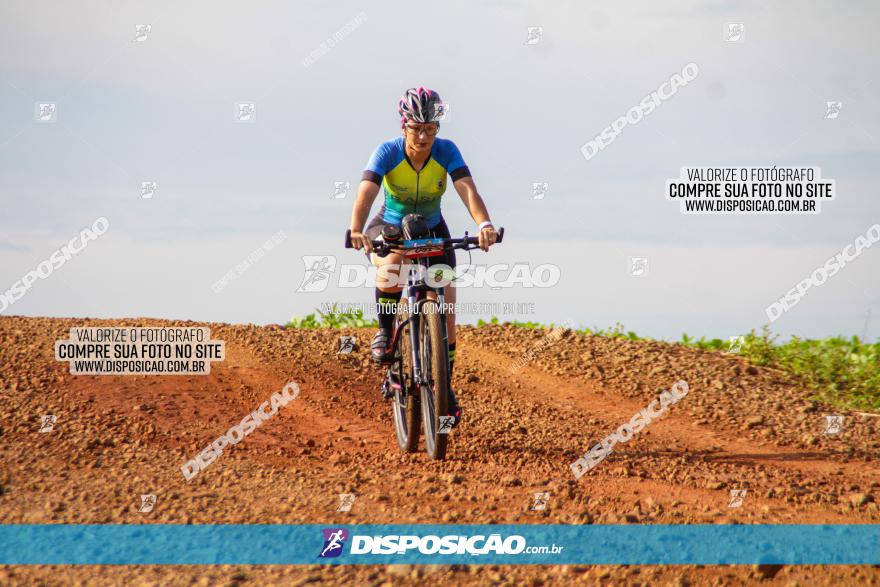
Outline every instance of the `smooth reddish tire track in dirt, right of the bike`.
<svg viewBox="0 0 880 587">
<path fill-rule="evenodd" d="M 468 347 L 467 352 L 472 354 L 480 365 L 512 364 L 504 354 L 487 350 L 485 347 Z M 585 433 L 561 433 L 566 440 L 574 439 L 578 448 L 575 452 L 565 451 L 568 458 L 561 463 L 565 471 L 563 472 L 562 466 L 559 466 L 558 474 L 571 475 L 568 464 L 574 458 L 586 452 L 617 426 L 628 422 L 633 414 L 646 405 L 622 397 L 613 390 L 602 389 L 601 385 L 595 382 L 572 384 L 563 378 L 528 365 L 519 368 L 515 376 L 503 369 L 483 370 L 483 372 L 487 373 L 487 383 L 490 386 L 497 380 L 498 386 L 511 389 L 515 379 L 519 384 L 517 399 L 524 406 L 546 404 L 552 406 L 552 409 L 556 410 L 560 418 L 564 418 L 566 422 L 572 419 L 580 422 L 578 429 Z M 673 381 L 670 381 L 671 383 Z M 686 402 L 693 393 L 699 393 L 699 389 L 691 388 L 689 395 L 682 401 Z M 548 425 L 547 422 L 536 424 Z M 568 443 L 565 441 L 560 442 L 557 451 L 563 451 L 562 445 L 566 444 Z M 664 466 L 680 460 L 682 455 L 688 455 L 685 459 L 687 461 L 696 460 L 701 464 L 704 469 L 704 479 L 698 478 L 700 483 L 675 483 L 663 480 L 662 475 L 652 474 L 651 471 L 663 471 Z M 859 523 L 864 521 L 863 515 L 857 512 L 836 512 L 829 504 L 823 504 L 819 511 L 815 506 L 805 510 L 803 507 L 790 505 L 787 501 L 770 499 L 773 496 L 768 496 L 767 493 L 774 492 L 774 485 L 767 486 L 767 483 L 761 483 L 760 479 L 752 474 L 754 469 L 767 471 L 777 468 L 786 469 L 785 473 L 776 476 L 776 485 L 781 483 L 781 479 L 788 474 L 788 471 L 810 474 L 816 484 L 830 483 L 829 476 L 833 475 L 857 478 L 864 486 L 880 478 L 878 475 L 880 471 L 876 465 L 864 462 L 835 462 L 834 459 L 841 456 L 841 454 L 817 452 L 804 453 L 733 438 L 726 431 L 707 430 L 705 427 L 693 424 L 686 414 L 673 407 L 627 444 L 618 444 L 614 456 L 607 458 L 588 472 L 581 479 L 581 484 L 591 496 L 629 495 L 635 501 L 640 495 L 644 496 L 647 493 L 655 496 L 652 497 L 652 502 L 659 500 L 660 503 L 671 503 L 684 500 L 693 504 L 714 503 L 714 508 L 723 508 L 728 504 L 727 492 L 720 490 L 748 488 L 752 493 L 752 496 L 748 497 L 748 502 L 754 507 L 730 509 L 726 514 L 722 513 L 723 509 L 712 510 L 709 517 L 730 516 L 730 519 L 739 519 L 742 512 L 752 510 L 764 514 L 761 516 L 762 522 L 778 523 L 784 519 L 787 522 L 797 520 L 799 523 Z M 634 459 L 644 462 L 643 470 L 637 471 L 630 481 L 617 478 L 620 475 L 633 477 L 633 472 L 628 470 L 626 463 Z M 734 468 L 731 470 L 725 465 L 733 465 Z M 724 470 L 725 468 L 727 471 Z M 738 482 L 730 480 L 730 477 L 735 476 L 732 473 L 736 471 L 739 472 Z M 725 481 L 715 479 L 718 473 L 725 477 Z M 766 480 L 767 475 L 763 471 L 760 474 Z M 707 487 L 694 487 L 694 485 Z M 757 496 L 754 495 L 756 490 L 761 492 Z"/>
</svg>

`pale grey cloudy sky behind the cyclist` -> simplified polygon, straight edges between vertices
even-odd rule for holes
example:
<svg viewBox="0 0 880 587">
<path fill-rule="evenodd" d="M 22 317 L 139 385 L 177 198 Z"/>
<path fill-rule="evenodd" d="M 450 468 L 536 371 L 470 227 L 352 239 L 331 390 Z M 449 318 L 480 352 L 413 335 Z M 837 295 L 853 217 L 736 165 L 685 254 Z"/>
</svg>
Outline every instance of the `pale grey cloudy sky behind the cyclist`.
<svg viewBox="0 0 880 587">
<path fill-rule="evenodd" d="M 423 85 L 450 104 L 440 136 L 505 227 L 472 262 L 560 270 L 553 287 L 462 289 L 459 301 L 533 303 L 499 318 L 666 339 L 760 329 L 770 303 L 880 222 L 878 15 L 816 1 L 3 3 L 0 293 L 95 219 L 110 227 L 2 314 L 268 324 L 371 302 L 371 287 L 340 288 L 335 274 L 297 291 L 303 257 L 365 264 L 342 245 L 357 184 L 400 134 L 400 96 Z M 743 24 L 737 42 L 729 23 Z M 693 81 L 583 156 L 688 63 Z M 842 104 L 836 118 L 828 101 Z M 52 121 L 36 119 L 40 103 L 55 104 Z M 664 195 L 685 166 L 771 165 L 820 167 L 836 198 L 816 215 L 685 215 Z M 474 231 L 451 188 L 443 211 L 455 235 Z M 878 249 L 772 329 L 880 336 Z M 645 274 L 631 274 L 633 257 Z"/>
</svg>

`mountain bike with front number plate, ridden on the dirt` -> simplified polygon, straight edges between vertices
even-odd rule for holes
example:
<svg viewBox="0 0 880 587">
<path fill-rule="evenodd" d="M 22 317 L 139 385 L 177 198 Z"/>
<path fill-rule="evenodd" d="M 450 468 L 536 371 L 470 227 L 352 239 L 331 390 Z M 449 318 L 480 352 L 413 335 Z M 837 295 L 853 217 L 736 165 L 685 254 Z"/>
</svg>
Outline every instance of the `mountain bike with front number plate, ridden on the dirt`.
<svg viewBox="0 0 880 587">
<path fill-rule="evenodd" d="M 386 235 L 387 236 L 387 235 Z M 399 235 L 398 235 L 399 236 Z M 500 243 L 504 228 L 498 230 Z M 443 287 L 425 282 L 433 271 L 428 258 L 450 250 L 479 248 L 477 237 L 409 238 L 397 242 L 373 240 L 373 252 L 384 257 L 399 253 L 416 268 L 409 268 L 405 295 L 397 307 L 394 330 L 389 344 L 388 370 L 382 383 L 385 398 L 391 398 L 397 443 L 405 452 L 419 447 L 419 429 L 424 425 L 425 450 L 432 459 L 446 458 L 448 432 L 453 416 L 449 415 L 449 348 L 446 331 L 446 301 Z M 352 248 L 351 231 L 345 233 L 345 247 Z M 413 270 L 415 269 L 415 270 Z M 441 276 L 436 269 L 436 281 Z"/>
</svg>

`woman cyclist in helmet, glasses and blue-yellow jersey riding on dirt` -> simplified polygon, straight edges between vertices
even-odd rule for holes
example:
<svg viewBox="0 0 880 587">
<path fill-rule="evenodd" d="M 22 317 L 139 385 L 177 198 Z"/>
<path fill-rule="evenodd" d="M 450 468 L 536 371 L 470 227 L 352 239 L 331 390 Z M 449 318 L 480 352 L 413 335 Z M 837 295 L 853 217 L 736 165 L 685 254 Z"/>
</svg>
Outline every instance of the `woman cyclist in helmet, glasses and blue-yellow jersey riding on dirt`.
<svg viewBox="0 0 880 587">
<path fill-rule="evenodd" d="M 480 248 L 488 251 L 498 239 L 495 227 L 489 220 L 489 212 L 483 198 L 477 193 L 477 186 L 458 147 L 448 139 L 438 138 L 439 119 L 445 107 L 437 92 L 424 87 L 410 88 L 398 104 L 401 136 L 385 141 L 373 151 L 367 162 L 363 178 L 358 187 L 358 195 L 351 212 L 351 242 L 369 255 L 372 252 L 370 240 L 378 240 L 386 225 L 400 227 L 407 214 L 418 213 L 425 217 L 431 236 L 450 238 L 449 228 L 440 213 L 440 199 L 446 191 L 447 174 L 452 179 L 455 191 L 461 197 L 471 218 L 478 226 Z M 379 188 L 385 192 L 385 201 L 379 213 L 364 229 L 370 208 Z M 384 270 L 378 271 L 376 278 L 376 303 L 379 315 L 379 330 L 373 337 L 370 351 L 377 362 L 390 358 L 388 344 L 394 325 L 394 313 L 400 301 L 402 290 L 397 276 L 402 262 L 398 254 L 384 258 L 372 255 L 374 265 Z M 442 263 L 455 267 L 455 253 L 448 251 L 442 256 L 431 257 L 430 264 Z M 452 285 L 452 284 L 450 284 Z M 455 287 L 448 287 L 446 301 L 455 303 Z M 452 391 L 452 366 L 455 362 L 455 314 L 447 317 L 449 333 L 449 414 L 454 417 L 453 426 L 461 420 L 461 406 Z"/>
</svg>

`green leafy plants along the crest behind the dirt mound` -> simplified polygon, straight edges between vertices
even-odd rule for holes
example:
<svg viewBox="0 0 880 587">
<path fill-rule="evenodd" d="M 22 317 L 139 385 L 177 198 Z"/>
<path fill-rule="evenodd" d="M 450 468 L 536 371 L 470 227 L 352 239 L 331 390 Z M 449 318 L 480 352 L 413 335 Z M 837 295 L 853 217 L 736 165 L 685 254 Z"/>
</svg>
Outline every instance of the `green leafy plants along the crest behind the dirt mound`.
<svg viewBox="0 0 880 587">
<path fill-rule="evenodd" d="M 334 310 L 336 307 L 334 306 Z M 516 328 L 554 328 L 554 324 L 538 322 L 500 322 L 493 316 L 488 322 L 478 320 L 477 326 L 507 324 Z M 347 313 L 331 311 L 294 317 L 288 328 L 367 328 L 378 327 L 376 320 L 364 318 L 363 312 Z M 627 331 L 617 323 L 611 328 L 573 328 L 575 332 L 625 338 L 628 340 L 653 340 Z M 835 336 L 818 340 L 792 337 L 779 343 L 765 326 L 761 333 L 752 330 L 739 340 L 720 338 L 693 338 L 683 334 L 676 344 L 706 351 L 736 352 L 758 366 L 773 367 L 791 373 L 813 392 L 813 399 L 823 403 L 854 410 L 880 411 L 880 343 L 869 343 Z M 737 348 L 734 348 L 734 345 Z"/>
</svg>

